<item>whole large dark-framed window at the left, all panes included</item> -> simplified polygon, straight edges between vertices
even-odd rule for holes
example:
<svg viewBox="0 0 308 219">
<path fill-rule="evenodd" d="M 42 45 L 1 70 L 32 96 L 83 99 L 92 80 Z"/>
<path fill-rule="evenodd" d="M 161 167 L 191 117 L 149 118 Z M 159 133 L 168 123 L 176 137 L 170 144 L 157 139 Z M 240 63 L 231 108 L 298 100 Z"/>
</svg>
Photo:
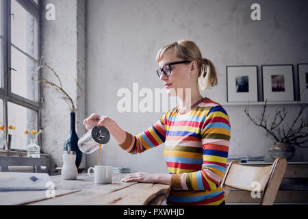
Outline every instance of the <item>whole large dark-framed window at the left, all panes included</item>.
<svg viewBox="0 0 308 219">
<path fill-rule="evenodd" d="M 0 125 L 10 133 L 11 151 L 25 151 L 29 144 L 25 129 L 40 128 L 40 86 L 34 71 L 40 57 L 39 1 L 1 0 L 0 31 Z M 8 129 L 10 125 L 16 129 Z"/>
</svg>

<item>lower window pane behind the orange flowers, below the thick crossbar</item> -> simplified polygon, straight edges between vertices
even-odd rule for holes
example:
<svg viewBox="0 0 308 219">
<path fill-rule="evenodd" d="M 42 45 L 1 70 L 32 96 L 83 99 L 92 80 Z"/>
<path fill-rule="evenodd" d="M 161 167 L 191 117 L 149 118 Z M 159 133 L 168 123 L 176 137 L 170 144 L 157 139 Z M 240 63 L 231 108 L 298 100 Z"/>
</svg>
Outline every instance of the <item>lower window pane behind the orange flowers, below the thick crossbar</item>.
<svg viewBox="0 0 308 219">
<path fill-rule="evenodd" d="M 12 134 L 11 149 L 27 150 L 29 136 L 25 135 L 25 130 L 37 130 L 37 113 L 21 105 L 8 102 L 8 125 L 14 125 L 15 130 L 10 130 Z"/>
</svg>

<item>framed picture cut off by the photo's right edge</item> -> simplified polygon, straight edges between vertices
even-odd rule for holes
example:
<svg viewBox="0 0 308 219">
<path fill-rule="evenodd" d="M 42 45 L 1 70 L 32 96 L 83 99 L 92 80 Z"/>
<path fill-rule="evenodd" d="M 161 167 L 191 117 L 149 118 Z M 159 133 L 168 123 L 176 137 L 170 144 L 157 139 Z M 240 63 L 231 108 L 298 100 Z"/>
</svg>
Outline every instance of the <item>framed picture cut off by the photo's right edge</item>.
<svg viewBox="0 0 308 219">
<path fill-rule="evenodd" d="M 308 63 L 297 64 L 300 102 L 308 103 Z"/>
</svg>

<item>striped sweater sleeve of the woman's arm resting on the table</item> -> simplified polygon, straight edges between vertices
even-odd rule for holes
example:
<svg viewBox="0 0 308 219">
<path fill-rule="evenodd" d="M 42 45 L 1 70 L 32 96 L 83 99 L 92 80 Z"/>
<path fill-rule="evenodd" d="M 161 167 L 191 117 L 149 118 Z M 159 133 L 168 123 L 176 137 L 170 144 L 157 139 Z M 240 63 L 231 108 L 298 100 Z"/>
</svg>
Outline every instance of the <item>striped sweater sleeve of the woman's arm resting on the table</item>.
<svg viewBox="0 0 308 219">
<path fill-rule="evenodd" d="M 226 170 L 230 123 L 227 112 L 218 105 L 211 107 L 201 127 L 203 164 L 201 170 L 172 175 L 176 190 L 216 190 Z"/>
</svg>

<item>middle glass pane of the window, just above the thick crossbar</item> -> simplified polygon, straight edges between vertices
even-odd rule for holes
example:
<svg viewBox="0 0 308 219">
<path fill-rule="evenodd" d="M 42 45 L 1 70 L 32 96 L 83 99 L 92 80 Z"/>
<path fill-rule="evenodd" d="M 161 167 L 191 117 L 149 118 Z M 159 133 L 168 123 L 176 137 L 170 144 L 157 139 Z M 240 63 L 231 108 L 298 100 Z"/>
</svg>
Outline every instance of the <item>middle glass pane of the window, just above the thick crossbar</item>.
<svg viewBox="0 0 308 219">
<path fill-rule="evenodd" d="M 14 68 L 11 70 L 12 92 L 31 101 L 38 101 L 38 77 L 33 73 L 38 64 L 14 47 L 11 47 L 11 59 L 11 68 Z"/>
</svg>

